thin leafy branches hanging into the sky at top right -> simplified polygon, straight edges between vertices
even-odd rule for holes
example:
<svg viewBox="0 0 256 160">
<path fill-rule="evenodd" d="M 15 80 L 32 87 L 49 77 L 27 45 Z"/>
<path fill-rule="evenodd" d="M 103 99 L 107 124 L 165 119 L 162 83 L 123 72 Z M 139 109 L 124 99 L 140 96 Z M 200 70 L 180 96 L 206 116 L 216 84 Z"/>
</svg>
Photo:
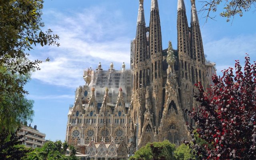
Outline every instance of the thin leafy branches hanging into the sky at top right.
<svg viewBox="0 0 256 160">
<path fill-rule="evenodd" d="M 202 2 L 204 6 L 200 11 L 206 11 L 206 18 L 214 18 L 210 16 L 210 12 L 216 12 L 217 7 L 223 4 L 224 11 L 220 13 L 220 16 L 226 17 L 227 22 L 229 22 L 230 18 L 234 17 L 236 14 L 239 14 L 239 16 L 242 17 L 243 12 L 247 12 L 256 6 L 256 0 L 207 0 Z"/>
</svg>

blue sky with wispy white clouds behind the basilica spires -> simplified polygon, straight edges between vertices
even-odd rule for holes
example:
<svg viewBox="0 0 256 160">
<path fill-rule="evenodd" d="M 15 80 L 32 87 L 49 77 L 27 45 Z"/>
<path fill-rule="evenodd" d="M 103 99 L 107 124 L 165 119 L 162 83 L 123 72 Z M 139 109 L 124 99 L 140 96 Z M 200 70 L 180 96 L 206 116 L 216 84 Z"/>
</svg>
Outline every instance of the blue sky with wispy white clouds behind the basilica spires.
<svg viewBox="0 0 256 160">
<path fill-rule="evenodd" d="M 185 0 L 190 24 L 190 0 Z M 197 10 L 202 3 L 196 0 Z M 159 0 L 163 48 L 171 40 L 177 47 L 177 0 Z M 221 6 L 218 8 L 221 10 Z M 149 25 L 150 0 L 144 0 L 146 24 Z M 218 13 L 215 20 L 199 13 L 200 28 L 207 59 L 216 62 L 217 73 L 234 66 L 234 60 L 243 64 L 245 53 L 256 60 L 256 22 L 251 10 L 242 18 L 226 22 Z M 67 114 L 74 104 L 76 87 L 84 85 L 84 68 L 95 69 L 99 62 L 107 69 L 110 62 L 120 69 L 122 62 L 130 68 L 130 40 L 136 34 L 138 0 L 45 0 L 42 21 L 60 36 L 60 47 L 36 46 L 30 59 L 44 60 L 41 70 L 32 74 L 26 85 L 28 99 L 34 103 L 32 126 L 46 134 L 48 140 L 65 139 Z"/>
</svg>

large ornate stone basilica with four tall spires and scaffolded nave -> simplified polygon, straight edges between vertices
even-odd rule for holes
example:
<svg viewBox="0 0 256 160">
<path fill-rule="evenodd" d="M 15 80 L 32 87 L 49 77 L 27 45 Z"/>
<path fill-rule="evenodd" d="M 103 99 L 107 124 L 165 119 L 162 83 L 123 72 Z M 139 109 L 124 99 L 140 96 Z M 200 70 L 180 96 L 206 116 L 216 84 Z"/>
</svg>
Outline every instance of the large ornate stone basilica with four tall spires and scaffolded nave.
<svg viewBox="0 0 256 160">
<path fill-rule="evenodd" d="M 94 158 L 126 158 L 148 142 L 169 140 L 177 146 L 189 140 L 184 110 L 198 104 L 195 83 L 204 88 L 216 74 L 215 64 L 206 61 L 196 12 L 191 0 L 188 26 L 184 0 L 178 0 L 178 48 L 171 42 L 162 48 L 158 0 L 151 1 L 150 24 L 139 0 L 136 38 L 131 42 L 131 69 L 122 64 L 108 70 L 101 64 L 84 71 L 86 82 L 76 90 L 68 112 L 66 141 Z"/>
</svg>

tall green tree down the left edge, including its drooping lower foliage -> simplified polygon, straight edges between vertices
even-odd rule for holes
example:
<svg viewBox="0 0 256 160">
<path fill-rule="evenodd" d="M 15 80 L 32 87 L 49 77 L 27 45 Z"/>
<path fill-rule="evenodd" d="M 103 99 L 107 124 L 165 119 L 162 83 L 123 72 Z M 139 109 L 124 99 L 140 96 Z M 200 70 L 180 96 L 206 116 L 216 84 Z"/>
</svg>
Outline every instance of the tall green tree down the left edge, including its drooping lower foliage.
<svg viewBox="0 0 256 160">
<path fill-rule="evenodd" d="M 0 0 L 0 132 L 3 127 L 14 132 L 20 121 L 32 121 L 33 101 L 26 99 L 24 85 L 43 61 L 30 61 L 30 50 L 37 44 L 59 46 L 57 35 L 41 30 L 43 2 Z"/>
</svg>

